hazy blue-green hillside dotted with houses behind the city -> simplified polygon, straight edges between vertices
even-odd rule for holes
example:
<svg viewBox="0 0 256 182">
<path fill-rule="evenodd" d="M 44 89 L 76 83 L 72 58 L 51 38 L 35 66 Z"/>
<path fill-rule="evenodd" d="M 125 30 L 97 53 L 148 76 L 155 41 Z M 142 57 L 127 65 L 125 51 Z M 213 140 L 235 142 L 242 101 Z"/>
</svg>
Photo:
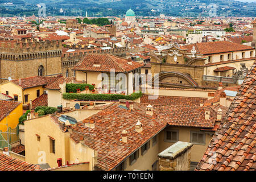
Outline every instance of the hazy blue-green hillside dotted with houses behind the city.
<svg viewBox="0 0 256 182">
<path fill-rule="evenodd" d="M 131 7 L 138 16 L 209 16 L 209 5 L 213 3 L 217 6 L 217 16 L 256 16 L 255 2 L 223 0 L 0 0 L 0 15 L 37 15 L 39 3 L 46 4 L 47 15 L 85 16 L 88 11 L 88 16 L 122 16 Z"/>
</svg>

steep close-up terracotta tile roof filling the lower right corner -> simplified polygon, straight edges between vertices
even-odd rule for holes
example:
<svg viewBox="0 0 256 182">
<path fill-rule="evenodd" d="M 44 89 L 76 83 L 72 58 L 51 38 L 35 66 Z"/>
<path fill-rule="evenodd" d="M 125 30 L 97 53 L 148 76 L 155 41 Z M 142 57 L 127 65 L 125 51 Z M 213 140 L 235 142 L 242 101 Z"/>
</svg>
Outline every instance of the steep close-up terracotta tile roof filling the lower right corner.
<svg viewBox="0 0 256 182">
<path fill-rule="evenodd" d="M 196 170 L 256 170 L 256 61 Z"/>
</svg>

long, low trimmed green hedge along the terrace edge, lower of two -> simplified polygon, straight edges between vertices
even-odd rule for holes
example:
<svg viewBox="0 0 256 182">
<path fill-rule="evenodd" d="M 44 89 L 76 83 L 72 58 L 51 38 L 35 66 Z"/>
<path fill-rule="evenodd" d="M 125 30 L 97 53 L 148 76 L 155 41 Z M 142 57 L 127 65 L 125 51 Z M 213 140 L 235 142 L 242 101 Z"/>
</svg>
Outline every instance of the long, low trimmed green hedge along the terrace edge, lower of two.
<svg viewBox="0 0 256 182">
<path fill-rule="evenodd" d="M 133 93 L 130 96 L 124 96 L 121 94 L 78 94 L 78 93 L 64 93 L 63 98 L 66 100 L 103 100 L 103 101 L 117 101 L 119 99 L 136 100 L 140 98 L 142 93 Z"/>
</svg>

